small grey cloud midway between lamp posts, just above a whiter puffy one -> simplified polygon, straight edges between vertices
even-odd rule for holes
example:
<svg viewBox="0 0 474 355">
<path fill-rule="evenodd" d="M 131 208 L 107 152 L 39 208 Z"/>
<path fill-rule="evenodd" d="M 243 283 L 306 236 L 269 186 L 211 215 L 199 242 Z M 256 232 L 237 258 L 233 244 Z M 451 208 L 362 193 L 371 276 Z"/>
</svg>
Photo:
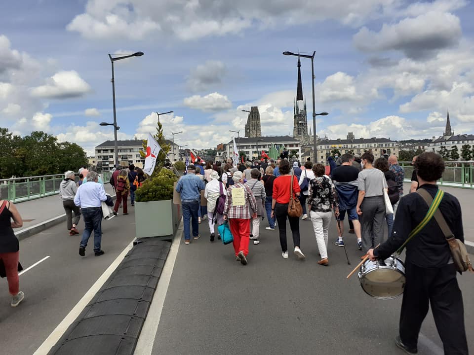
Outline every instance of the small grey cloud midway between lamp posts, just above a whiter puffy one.
<svg viewBox="0 0 474 355">
<path fill-rule="evenodd" d="M 226 66 L 221 61 L 210 60 L 203 65 L 191 69 L 186 85 L 191 91 L 207 90 L 215 84 L 220 84 L 226 75 Z"/>
</svg>

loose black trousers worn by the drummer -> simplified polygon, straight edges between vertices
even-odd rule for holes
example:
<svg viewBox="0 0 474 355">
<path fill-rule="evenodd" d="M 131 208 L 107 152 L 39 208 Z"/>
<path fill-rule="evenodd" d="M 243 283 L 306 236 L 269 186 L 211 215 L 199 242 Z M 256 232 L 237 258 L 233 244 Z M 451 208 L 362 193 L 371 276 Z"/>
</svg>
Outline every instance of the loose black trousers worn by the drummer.
<svg viewBox="0 0 474 355">
<path fill-rule="evenodd" d="M 429 303 L 445 355 L 468 355 L 464 327 L 463 296 L 456 279 L 454 264 L 425 269 L 406 262 L 406 284 L 400 313 L 400 338 L 416 347 L 421 323 Z"/>
</svg>

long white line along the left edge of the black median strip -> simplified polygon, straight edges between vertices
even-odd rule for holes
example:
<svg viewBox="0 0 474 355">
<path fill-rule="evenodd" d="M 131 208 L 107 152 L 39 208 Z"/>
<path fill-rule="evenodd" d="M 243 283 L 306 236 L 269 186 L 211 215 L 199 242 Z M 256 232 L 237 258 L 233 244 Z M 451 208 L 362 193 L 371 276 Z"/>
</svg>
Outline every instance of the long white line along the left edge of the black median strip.
<svg viewBox="0 0 474 355">
<path fill-rule="evenodd" d="M 59 323 L 56 329 L 53 330 L 51 334 L 46 338 L 46 340 L 41 344 L 38 350 L 33 355 L 45 355 L 47 354 L 51 348 L 61 339 L 64 332 L 69 328 L 69 326 L 78 318 L 79 314 L 82 310 L 87 306 L 87 304 L 92 300 L 95 294 L 99 291 L 99 289 L 105 284 L 107 279 L 109 279 L 110 275 L 117 269 L 120 262 L 123 260 L 127 252 L 133 248 L 133 240 L 130 242 L 129 245 L 123 249 L 123 251 L 117 256 L 117 258 L 110 264 L 107 270 L 99 277 L 99 279 L 89 288 L 89 290 L 84 294 L 84 296 L 80 299 L 78 304 L 74 306 L 74 308 L 69 312 L 69 314 Z"/>
</svg>

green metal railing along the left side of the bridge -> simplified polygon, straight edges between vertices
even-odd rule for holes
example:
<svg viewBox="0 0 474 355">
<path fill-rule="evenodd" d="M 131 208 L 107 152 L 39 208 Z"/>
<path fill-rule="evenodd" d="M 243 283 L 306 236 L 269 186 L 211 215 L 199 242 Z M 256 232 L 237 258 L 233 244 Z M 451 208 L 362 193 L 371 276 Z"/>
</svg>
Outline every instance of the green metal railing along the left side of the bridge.
<svg viewBox="0 0 474 355">
<path fill-rule="evenodd" d="M 104 183 L 109 183 L 111 172 L 100 174 Z M 59 193 L 64 174 L 42 175 L 25 178 L 0 179 L 0 196 L 12 202 L 28 201 Z M 76 174 L 76 181 L 79 174 Z"/>
</svg>

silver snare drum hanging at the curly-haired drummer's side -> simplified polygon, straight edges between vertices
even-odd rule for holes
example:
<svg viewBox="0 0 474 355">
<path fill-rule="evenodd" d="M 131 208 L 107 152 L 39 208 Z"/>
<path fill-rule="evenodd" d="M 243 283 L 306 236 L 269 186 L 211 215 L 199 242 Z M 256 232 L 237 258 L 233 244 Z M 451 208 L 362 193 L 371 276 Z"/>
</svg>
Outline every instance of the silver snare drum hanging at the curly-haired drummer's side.
<svg viewBox="0 0 474 355">
<path fill-rule="evenodd" d="M 392 255 L 384 261 L 367 260 L 357 273 L 362 289 L 378 299 L 392 299 L 403 293 L 405 265 Z"/>
</svg>

